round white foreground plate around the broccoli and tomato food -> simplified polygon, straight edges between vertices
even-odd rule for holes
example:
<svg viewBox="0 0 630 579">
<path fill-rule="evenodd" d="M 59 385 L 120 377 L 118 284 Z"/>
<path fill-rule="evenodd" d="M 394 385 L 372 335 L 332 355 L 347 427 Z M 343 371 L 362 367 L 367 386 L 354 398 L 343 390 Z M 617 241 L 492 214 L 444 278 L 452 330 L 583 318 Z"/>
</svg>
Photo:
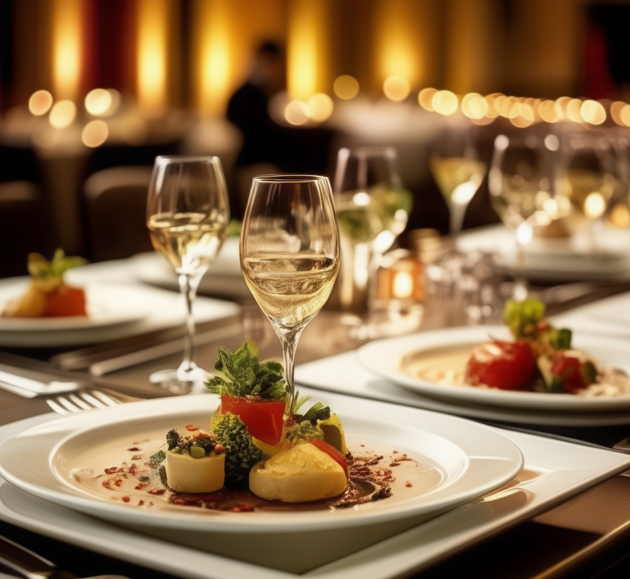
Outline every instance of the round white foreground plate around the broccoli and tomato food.
<svg viewBox="0 0 630 579">
<path fill-rule="evenodd" d="M 123 442 L 141 447 L 138 441 L 149 444 L 146 441 L 154 433 L 162 438 L 174 426 L 206 424 L 217 403 L 216 397 L 206 394 L 126 404 L 35 426 L 0 447 L 0 474 L 41 498 L 121 524 L 187 531 L 280 533 L 426 516 L 490 492 L 512 480 L 522 468 L 523 458 L 516 445 L 485 426 L 369 400 L 334 394 L 317 397 L 339 415 L 351 447 L 386 446 L 420 457 L 442 472 L 441 482 L 430 491 L 418 492 L 400 480 L 394 484 L 392 497 L 352 509 L 232 513 L 127 505 L 75 480 L 73 472 L 89 467 L 86 463 L 97 457 L 111 466 L 111 453 L 119 453 Z"/>
</svg>

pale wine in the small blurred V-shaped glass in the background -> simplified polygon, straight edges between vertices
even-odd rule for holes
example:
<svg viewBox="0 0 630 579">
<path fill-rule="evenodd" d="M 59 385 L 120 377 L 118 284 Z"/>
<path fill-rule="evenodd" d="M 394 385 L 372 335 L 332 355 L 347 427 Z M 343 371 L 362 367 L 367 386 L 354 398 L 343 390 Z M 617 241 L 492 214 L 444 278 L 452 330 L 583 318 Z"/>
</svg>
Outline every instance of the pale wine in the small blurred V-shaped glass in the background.
<svg viewBox="0 0 630 579">
<path fill-rule="evenodd" d="M 432 157 L 431 172 L 442 196 L 452 205 L 467 205 L 486 174 L 486 164 L 463 157 Z"/>
</svg>

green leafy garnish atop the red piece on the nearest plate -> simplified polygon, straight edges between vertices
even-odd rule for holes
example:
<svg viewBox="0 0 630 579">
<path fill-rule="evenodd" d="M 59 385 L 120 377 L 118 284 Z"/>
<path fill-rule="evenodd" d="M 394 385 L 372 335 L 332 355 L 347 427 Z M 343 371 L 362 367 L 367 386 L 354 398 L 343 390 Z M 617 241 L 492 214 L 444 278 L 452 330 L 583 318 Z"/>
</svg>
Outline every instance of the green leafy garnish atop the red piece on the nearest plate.
<svg viewBox="0 0 630 579">
<path fill-rule="evenodd" d="M 219 348 L 214 365 L 217 375 L 206 382 L 210 392 L 239 398 L 256 397 L 265 400 L 286 400 L 284 368 L 279 362 L 259 362 L 253 341 L 245 342 L 236 352 Z"/>
</svg>

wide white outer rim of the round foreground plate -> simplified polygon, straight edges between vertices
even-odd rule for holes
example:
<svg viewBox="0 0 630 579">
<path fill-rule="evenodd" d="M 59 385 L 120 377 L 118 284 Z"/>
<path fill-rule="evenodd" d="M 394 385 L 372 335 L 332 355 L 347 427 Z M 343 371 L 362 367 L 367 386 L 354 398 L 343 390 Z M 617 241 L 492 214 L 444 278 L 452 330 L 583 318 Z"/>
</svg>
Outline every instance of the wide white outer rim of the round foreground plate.
<svg viewBox="0 0 630 579">
<path fill-rule="evenodd" d="M 318 393 L 321 395 L 321 392 Z M 163 398 L 163 399 L 154 399 L 147 400 L 142 402 L 135 402 L 126 405 L 121 405 L 118 407 L 100 410 L 97 412 L 91 412 L 88 415 L 88 420 L 95 426 L 99 426 L 104 424 L 107 421 L 111 421 L 112 416 L 116 416 L 120 414 L 117 412 L 120 410 L 123 411 L 120 415 L 125 420 L 131 420 L 134 417 L 137 417 L 139 413 L 142 413 L 142 410 L 153 410 L 155 414 L 155 410 L 157 409 L 157 416 L 159 418 L 165 418 L 169 414 L 178 412 L 195 412 L 196 405 L 198 404 L 198 398 L 204 397 L 210 399 L 210 395 L 201 394 L 197 396 L 186 396 L 181 398 Z M 370 400 L 357 400 L 351 397 L 344 397 L 342 395 L 329 394 L 326 393 L 322 396 L 324 399 L 332 400 L 333 403 L 336 400 L 336 403 L 339 404 L 342 399 L 345 399 L 345 402 L 342 403 L 346 406 L 359 406 L 360 409 L 354 414 L 354 416 L 358 416 L 360 412 L 368 410 L 372 410 L 376 413 L 382 409 L 384 403 L 370 401 Z M 173 404 L 175 402 L 175 404 Z M 212 404 L 216 404 L 216 400 L 212 402 Z M 469 420 L 465 420 L 458 417 L 446 416 L 446 415 L 437 415 L 436 413 L 423 411 L 415 408 L 407 408 L 401 409 L 401 407 L 396 405 L 386 404 L 386 407 L 389 409 L 385 412 L 385 415 L 394 414 L 404 414 L 406 415 L 405 420 L 408 421 L 408 425 L 417 426 L 415 422 L 418 419 L 418 414 L 425 414 L 425 420 L 428 415 L 434 415 L 432 420 L 434 421 L 433 427 L 438 426 L 438 421 L 440 426 L 438 430 L 442 432 L 438 432 L 438 436 L 443 436 L 444 430 L 446 426 L 442 423 L 446 422 L 450 426 L 454 426 L 459 423 L 465 423 L 468 428 L 455 428 L 455 430 L 460 431 L 463 430 L 467 432 L 468 435 L 465 435 L 461 432 L 453 433 L 451 436 L 455 438 L 449 438 L 448 440 L 454 443 L 456 446 L 462 448 L 462 444 L 465 446 L 470 444 L 470 432 L 476 432 L 477 437 L 481 438 L 481 442 L 477 441 L 475 444 L 478 444 L 481 447 L 482 452 L 479 456 L 476 456 L 475 453 L 471 453 L 462 449 L 464 454 L 468 456 L 470 465 L 465 470 L 465 472 L 457 478 L 452 484 L 448 485 L 445 489 L 440 491 L 439 489 L 434 493 L 433 491 L 428 493 L 429 495 L 436 494 L 438 495 L 438 499 L 435 500 L 432 497 L 431 506 L 427 508 L 425 504 L 420 502 L 420 506 L 416 506 L 415 508 L 409 509 L 408 501 L 404 503 L 399 503 L 398 506 L 395 506 L 392 509 L 378 510 L 374 511 L 366 510 L 361 511 L 360 516 L 348 515 L 346 510 L 338 510 L 334 511 L 334 513 L 340 513 L 338 516 L 330 516 L 329 511 L 316 511 L 317 516 L 309 516 L 304 517 L 302 513 L 302 520 L 295 521 L 295 518 L 291 520 L 284 516 L 283 514 L 276 513 L 277 516 L 269 516 L 269 513 L 265 513 L 265 517 L 261 517 L 260 522 L 254 521 L 252 524 L 251 519 L 243 518 L 242 514 L 236 514 L 234 517 L 222 517 L 218 526 L 212 525 L 213 522 L 219 521 L 219 519 L 211 519 L 207 515 L 191 515 L 185 513 L 183 516 L 173 516 L 170 514 L 164 515 L 164 512 L 161 514 L 160 511 L 133 511 L 131 508 L 125 505 L 112 505 L 106 501 L 98 501 L 94 498 L 87 497 L 85 495 L 79 494 L 78 491 L 72 492 L 72 487 L 68 483 L 64 483 L 65 486 L 60 491 L 60 484 L 53 485 L 51 488 L 51 479 L 55 479 L 57 483 L 60 483 L 59 479 L 56 478 L 55 473 L 51 470 L 50 464 L 53 460 L 52 451 L 54 448 L 58 446 L 62 439 L 66 439 L 67 436 L 74 433 L 76 436 L 77 429 L 80 429 L 80 426 L 84 421 L 87 413 L 81 413 L 77 415 L 72 415 L 68 417 L 62 417 L 62 419 L 55 421 L 55 425 L 57 428 L 57 435 L 52 436 L 50 432 L 50 426 L 44 428 L 46 433 L 46 438 L 41 449 L 41 452 L 46 455 L 46 468 L 47 472 L 43 475 L 34 475 L 24 474 L 23 469 L 20 470 L 20 467 L 16 470 L 16 462 L 17 458 L 14 458 L 11 461 L 11 453 L 16 452 L 20 447 L 20 441 L 25 437 L 32 437 L 33 435 L 42 435 L 39 432 L 41 430 L 40 427 L 33 427 L 24 431 L 23 433 L 19 433 L 12 437 L 11 439 L 5 441 L 2 445 L 0 445 L 0 457 L 4 456 L 4 461 L 0 461 L 0 474 L 3 478 L 21 488 L 30 492 L 31 494 L 35 494 L 40 498 L 44 498 L 56 504 L 60 504 L 65 507 L 69 507 L 73 510 L 80 511 L 89 515 L 97 516 L 99 518 L 104 518 L 109 520 L 110 522 L 115 523 L 123 523 L 123 524 L 134 524 L 140 526 L 154 526 L 160 528 L 186 528 L 188 530 L 200 529 L 205 531 L 223 531 L 223 532 L 243 532 L 244 528 L 247 528 L 248 532 L 287 532 L 287 531 L 314 531 L 314 530 L 324 530 L 327 528 L 351 528 L 353 526 L 358 525 L 366 525 L 366 524 L 381 524 L 383 522 L 387 522 L 390 520 L 401 520 L 404 518 L 413 518 L 414 516 L 424 516 L 428 513 L 438 512 L 441 510 L 446 510 L 448 508 L 453 508 L 459 504 L 462 504 L 468 500 L 472 500 L 485 494 L 486 492 L 490 492 L 491 490 L 500 487 L 501 485 L 509 482 L 522 468 L 523 466 L 523 455 L 520 449 L 511 442 L 507 437 L 502 435 L 497 435 L 496 431 L 492 430 L 485 425 L 477 424 Z M 197 408 L 196 412 L 200 412 Z M 343 412 L 340 412 L 343 418 Z M 83 419 L 83 420 L 82 420 Z M 374 421 L 373 417 L 370 417 L 371 421 Z M 431 420 L 431 418 L 429 418 Z M 83 429 L 81 429 L 83 430 Z M 424 429 L 426 430 L 426 429 Z M 432 434 L 436 434 L 432 430 L 428 430 Z M 61 438 L 59 438 L 59 433 L 63 434 Z M 461 440 L 461 441 L 460 441 Z M 17 441 L 17 442 L 16 442 Z M 484 449 L 485 446 L 485 449 Z M 488 480 L 477 480 L 483 478 L 485 476 L 485 466 L 487 466 L 487 457 L 488 455 L 492 455 L 492 452 L 489 450 L 490 448 L 499 447 L 499 450 L 494 451 L 494 456 L 499 460 L 494 459 L 494 462 L 498 465 L 497 468 L 500 469 L 499 473 L 493 472 L 492 481 Z M 501 454 L 503 453 L 503 454 Z M 8 460 L 7 460 L 8 459 Z M 41 460 L 41 459 L 40 459 Z M 8 466 L 7 466 L 8 465 Z M 32 465 L 31 465 L 32 466 Z M 43 476 L 43 481 L 42 481 Z M 33 478 L 35 477 L 35 479 Z M 35 482 L 34 482 L 35 480 Z M 474 483 L 474 484 L 472 484 Z M 56 487 L 56 488 L 55 488 Z M 464 488 L 468 487 L 468 488 Z M 65 491 L 65 492 L 64 492 Z M 440 497 L 440 492 L 445 496 Z M 230 513 L 226 513 L 229 515 Z M 148 515 L 148 516 L 145 516 Z M 284 514 L 286 515 L 286 513 Z M 240 518 L 238 518 L 240 517 Z"/>
</svg>

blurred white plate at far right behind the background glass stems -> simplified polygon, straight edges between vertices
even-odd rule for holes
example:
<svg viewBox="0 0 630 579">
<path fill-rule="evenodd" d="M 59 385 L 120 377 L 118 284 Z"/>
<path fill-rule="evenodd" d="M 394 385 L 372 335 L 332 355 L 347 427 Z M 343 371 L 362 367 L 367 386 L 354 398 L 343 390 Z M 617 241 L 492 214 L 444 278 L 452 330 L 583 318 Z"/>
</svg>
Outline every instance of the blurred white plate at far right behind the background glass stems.
<svg viewBox="0 0 630 579">
<path fill-rule="evenodd" d="M 630 231 L 605 228 L 598 244 L 601 254 L 593 256 L 586 234 L 564 239 L 534 238 L 526 249 L 525 274 L 532 279 L 557 281 L 630 279 Z M 458 236 L 457 248 L 491 253 L 501 271 L 511 274 L 516 270 L 514 232 L 504 225 L 464 231 Z"/>
</svg>

